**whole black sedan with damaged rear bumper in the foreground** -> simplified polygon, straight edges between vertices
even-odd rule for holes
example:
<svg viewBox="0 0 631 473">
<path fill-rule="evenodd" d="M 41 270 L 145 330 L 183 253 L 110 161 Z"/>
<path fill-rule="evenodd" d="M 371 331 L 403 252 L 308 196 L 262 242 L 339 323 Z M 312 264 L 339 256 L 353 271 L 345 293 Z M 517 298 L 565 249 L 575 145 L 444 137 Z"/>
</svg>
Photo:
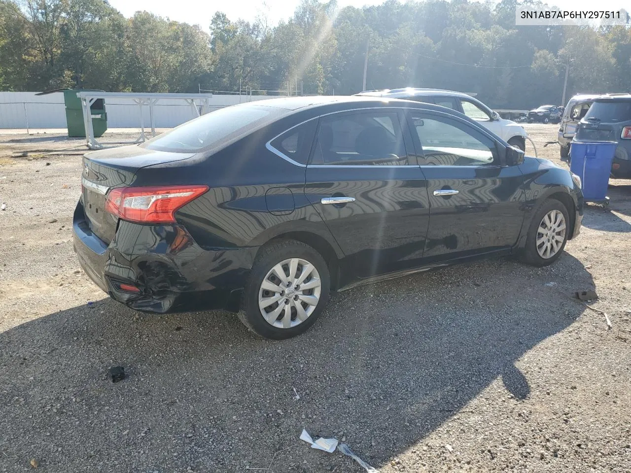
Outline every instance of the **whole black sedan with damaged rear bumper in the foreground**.
<svg viewBox="0 0 631 473">
<path fill-rule="evenodd" d="M 483 255 L 550 264 L 583 212 L 567 170 L 396 99 L 235 105 L 83 163 L 74 248 L 95 283 L 136 310 L 239 312 L 273 339 L 355 284 Z"/>
</svg>

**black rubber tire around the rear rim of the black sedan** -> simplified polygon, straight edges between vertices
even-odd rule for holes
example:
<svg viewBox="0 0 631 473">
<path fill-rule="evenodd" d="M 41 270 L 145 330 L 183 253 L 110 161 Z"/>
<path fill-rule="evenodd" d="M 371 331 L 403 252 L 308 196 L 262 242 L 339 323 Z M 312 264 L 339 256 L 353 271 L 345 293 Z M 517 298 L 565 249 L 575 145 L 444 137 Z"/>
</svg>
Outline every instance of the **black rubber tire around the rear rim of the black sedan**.
<svg viewBox="0 0 631 473">
<path fill-rule="evenodd" d="M 261 284 L 268 272 L 276 264 L 292 258 L 307 260 L 315 267 L 321 283 L 320 298 L 313 312 L 310 313 L 304 322 L 289 328 L 275 327 L 263 317 L 261 309 L 259 309 L 259 291 L 262 290 Z M 321 254 L 309 245 L 296 240 L 276 240 L 262 247 L 256 260 L 254 260 L 254 265 L 241 299 L 239 320 L 252 332 L 264 338 L 283 340 L 295 337 L 309 329 L 317 320 L 329 300 L 330 289 L 331 276 Z M 295 309 L 293 310 L 295 311 Z M 295 313 L 292 313 L 292 321 L 295 320 Z"/>
</svg>

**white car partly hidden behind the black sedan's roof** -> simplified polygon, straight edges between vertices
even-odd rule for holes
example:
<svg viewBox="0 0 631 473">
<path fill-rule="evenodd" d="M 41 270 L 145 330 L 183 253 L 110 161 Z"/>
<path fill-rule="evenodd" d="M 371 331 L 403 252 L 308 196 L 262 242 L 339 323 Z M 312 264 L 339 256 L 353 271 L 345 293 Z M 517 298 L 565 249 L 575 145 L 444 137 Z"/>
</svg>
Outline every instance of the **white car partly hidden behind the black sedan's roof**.
<svg viewBox="0 0 631 473">
<path fill-rule="evenodd" d="M 503 119 L 497 112 L 493 112 L 493 110 L 480 102 L 480 100 L 463 92 L 408 87 L 404 89 L 367 90 L 356 95 L 404 98 L 407 100 L 416 100 L 417 102 L 435 103 L 442 107 L 452 108 L 470 119 L 476 120 L 480 125 L 504 139 L 510 146 L 526 151 L 527 135 L 524 127 L 512 120 Z"/>
</svg>

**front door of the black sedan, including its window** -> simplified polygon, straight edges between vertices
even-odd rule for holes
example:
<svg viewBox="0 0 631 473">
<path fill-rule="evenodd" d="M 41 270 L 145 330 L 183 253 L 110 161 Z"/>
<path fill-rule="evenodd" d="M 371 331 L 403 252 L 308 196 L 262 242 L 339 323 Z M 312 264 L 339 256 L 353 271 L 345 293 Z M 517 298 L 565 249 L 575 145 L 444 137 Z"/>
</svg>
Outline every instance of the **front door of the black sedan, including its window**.
<svg viewBox="0 0 631 473">
<path fill-rule="evenodd" d="M 426 262 L 512 247 L 524 219 L 519 166 L 503 165 L 502 145 L 466 120 L 424 111 L 408 117 L 430 202 Z"/>
</svg>

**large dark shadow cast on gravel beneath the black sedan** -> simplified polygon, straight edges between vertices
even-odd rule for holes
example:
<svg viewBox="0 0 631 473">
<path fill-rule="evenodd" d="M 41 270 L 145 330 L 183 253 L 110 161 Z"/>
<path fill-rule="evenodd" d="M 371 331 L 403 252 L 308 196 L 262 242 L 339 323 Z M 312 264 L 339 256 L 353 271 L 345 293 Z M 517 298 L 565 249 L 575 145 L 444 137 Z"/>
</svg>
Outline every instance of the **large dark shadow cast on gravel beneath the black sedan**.
<svg viewBox="0 0 631 473">
<path fill-rule="evenodd" d="M 581 315 L 560 293 L 592 284 L 569 254 L 451 267 L 341 293 L 283 342 L 226 313 L 138 317 L 110 300 L 51 313 L 0 334 L 0 470 L 35 457 L 47 472 L 243 471 L 293 446 L 272 470 L 359 471 L 302 428 L 379 467 L 498 377 L 505 402 L 528 397 L 516 361 Z M 112 365 L 127 378 L 112 383 Z"/>
</svg>

